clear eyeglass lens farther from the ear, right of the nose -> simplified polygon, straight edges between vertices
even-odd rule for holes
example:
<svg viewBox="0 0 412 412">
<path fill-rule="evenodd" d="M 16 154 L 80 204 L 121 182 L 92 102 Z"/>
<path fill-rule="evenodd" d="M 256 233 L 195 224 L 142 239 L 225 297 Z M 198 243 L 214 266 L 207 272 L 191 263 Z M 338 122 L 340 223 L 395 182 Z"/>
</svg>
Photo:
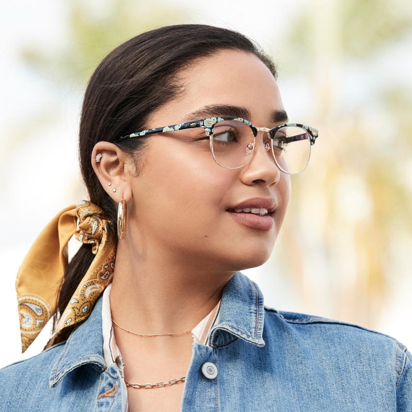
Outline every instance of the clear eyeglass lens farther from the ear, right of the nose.
<svg viewBox="0 0 412 412">
<path fill-rule="evenodd" d="M 310 158 L 310 135 L 307 130 L 282 127 L 272 141 L 272 152 L 279 168 L 286 173 L 300 173 L 306 169 Z"/>
</svg>

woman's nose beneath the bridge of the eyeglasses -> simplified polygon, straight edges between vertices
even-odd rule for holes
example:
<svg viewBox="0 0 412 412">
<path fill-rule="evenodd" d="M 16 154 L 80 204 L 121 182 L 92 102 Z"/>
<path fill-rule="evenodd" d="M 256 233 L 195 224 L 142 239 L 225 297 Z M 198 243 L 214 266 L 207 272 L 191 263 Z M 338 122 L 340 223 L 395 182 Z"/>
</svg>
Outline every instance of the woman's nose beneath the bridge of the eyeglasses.
<svg viewBox="0 0 412 412">
<path fill-rule="evenodd" d="M 268 151 L 269 143 L 263 144 L 268 131 L 269 129 L 264 127 L 258 128 L 252 157 L 244 166 L 241 174 L 242 182 L 247 185 L 259 184 L 271 187 L 279 182 L 281 171 L 276 166 L 270 146 Z"/>
</svg>

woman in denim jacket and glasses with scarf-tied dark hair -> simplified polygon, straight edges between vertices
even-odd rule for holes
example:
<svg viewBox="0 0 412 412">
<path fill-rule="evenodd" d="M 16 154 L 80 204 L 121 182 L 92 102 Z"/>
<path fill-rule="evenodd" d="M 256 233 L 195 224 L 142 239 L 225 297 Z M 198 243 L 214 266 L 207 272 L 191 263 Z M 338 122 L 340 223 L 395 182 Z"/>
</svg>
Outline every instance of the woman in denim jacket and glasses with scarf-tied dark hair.
<svg viewBox="0 0 412 412">
<path fill-rule="evenodd" d="M 239 272 L 269 258 L 317 138 L 287 122 L 273 63 L 237 32 L 164 27 L 100 63 L 90 202 L 49 223 L 16 282 L 23 350 L 53 313 L 54 334 L 1 370 L 2 411 L 412 410 L 402 344 L 264 307 Z"/>
</svg>

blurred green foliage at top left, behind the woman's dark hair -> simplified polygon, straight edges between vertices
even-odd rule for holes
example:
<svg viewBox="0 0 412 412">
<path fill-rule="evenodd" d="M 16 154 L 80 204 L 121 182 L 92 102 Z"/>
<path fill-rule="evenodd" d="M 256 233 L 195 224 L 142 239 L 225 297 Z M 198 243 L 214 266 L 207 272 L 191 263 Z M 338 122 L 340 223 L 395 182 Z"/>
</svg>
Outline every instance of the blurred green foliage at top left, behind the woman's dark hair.
<svg viewBox="0 0 412 412">
<path fill-rule="evenodd" d="M 186 16 L 169 4 L 156 1 L 66 1 L 67 43 L 49 53 L 35 45 L 22 49 L 34 70 L 59 85 L 85 85 L 100 61 L 114 48 L 142 32 L 184 23 Z"/>
</svg>

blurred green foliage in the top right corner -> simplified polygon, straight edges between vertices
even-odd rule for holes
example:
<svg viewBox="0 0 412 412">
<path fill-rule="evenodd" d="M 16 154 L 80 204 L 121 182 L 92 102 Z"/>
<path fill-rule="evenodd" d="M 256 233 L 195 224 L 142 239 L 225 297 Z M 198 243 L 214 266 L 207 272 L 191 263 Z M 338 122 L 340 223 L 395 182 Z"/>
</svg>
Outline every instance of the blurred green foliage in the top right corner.
<svg viewBox="0 0 412 412">
<path fill-rule="evenodd" d="M 289 47 L 309 60 L 317 53 L 316 32 L 322 28 L 326 30 L 321 43 L 335 42 L 333 53 L 348 59 L 370 57 L 411 29 L 412 10 L 407 1 L 315 0 L 310 4 L 297 18 L 286 40 Z"/>
</svg>

